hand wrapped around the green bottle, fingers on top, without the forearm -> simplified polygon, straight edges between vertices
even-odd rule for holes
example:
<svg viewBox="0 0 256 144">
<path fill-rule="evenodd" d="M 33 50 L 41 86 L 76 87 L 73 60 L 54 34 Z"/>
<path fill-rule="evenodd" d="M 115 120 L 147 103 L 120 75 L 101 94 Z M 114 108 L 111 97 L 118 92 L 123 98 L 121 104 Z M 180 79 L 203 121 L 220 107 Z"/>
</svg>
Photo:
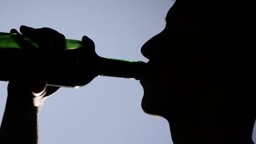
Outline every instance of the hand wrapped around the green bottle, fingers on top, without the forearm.
<svg viewBox="0 0 256 144">
<path fill-rule="evenodd" d="M 61 51 L 65 47 L 65 36 L 61 33 L 58 33 L 54 29 L 50 28 L 40 28 L 34 29 L 27 26 L 20 26 L 20 33 L 16 29 L 11 29 L 10 33 L 17 33 L 18 35 L 23 34 L 24 36 L 28 37 L 29 39 L 33 40 L 39 46 L 39 49 L 42 51 L 53 52 L 53 51 Z M 19 38 L 19 37 L 16 37 Z M 16 39 L 19 41 L 20 47 L 22 49 L 33 50 L 36 49 L 30 43 L 26 41 L 22 41 L 22 39 Z M 47 65 L 34 65 L 31 67 L 31 71 L 35 73 L 40 73 L 37 71 L 41 70 L 48 70 Z M 8 94 L 9 93 L 18 93 L 20 92 L 32 92 L 35 96 L 33 98 L 33 103 L 36 106 L 39 106 L 43 103 L 43 99 L 47 96 L 52 95 L 56 92 L 59 87 L 53 86 L 46 86 L 47 81 L 44 79 L 43 75 L 33 75 L 32 77 L 26 77 L 25 79 L 18 79 L 18 80 L 10 80 L 8 84 Z M 17 91 L 17 89 L 20 89 Z M 26 90 L 25 90 L 26 89 Z M 16 95 L 16 94 L 14 94 Z"/>
</svg>

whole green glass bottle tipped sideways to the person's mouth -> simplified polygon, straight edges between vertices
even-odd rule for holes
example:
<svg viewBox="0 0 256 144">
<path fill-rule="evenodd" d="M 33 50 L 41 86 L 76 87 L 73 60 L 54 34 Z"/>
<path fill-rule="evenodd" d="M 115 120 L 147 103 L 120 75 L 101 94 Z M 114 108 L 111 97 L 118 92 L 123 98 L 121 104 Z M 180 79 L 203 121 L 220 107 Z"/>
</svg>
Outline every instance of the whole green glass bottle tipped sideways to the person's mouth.
<svg viewBox="0 0 256 144">
<path fill-rule="evenodd" d="M 21 40 L 33 46 L 23 49 Z M 97 76 L 139 80 L 146 62 L 100 57 L 82 41 L 65 39 L 62 51 L 42 50 L 31 39 L 14 33 L 0 33 L 0 80 L 47 79 L 47 85 L 79 88 Z"/>
</svg>

